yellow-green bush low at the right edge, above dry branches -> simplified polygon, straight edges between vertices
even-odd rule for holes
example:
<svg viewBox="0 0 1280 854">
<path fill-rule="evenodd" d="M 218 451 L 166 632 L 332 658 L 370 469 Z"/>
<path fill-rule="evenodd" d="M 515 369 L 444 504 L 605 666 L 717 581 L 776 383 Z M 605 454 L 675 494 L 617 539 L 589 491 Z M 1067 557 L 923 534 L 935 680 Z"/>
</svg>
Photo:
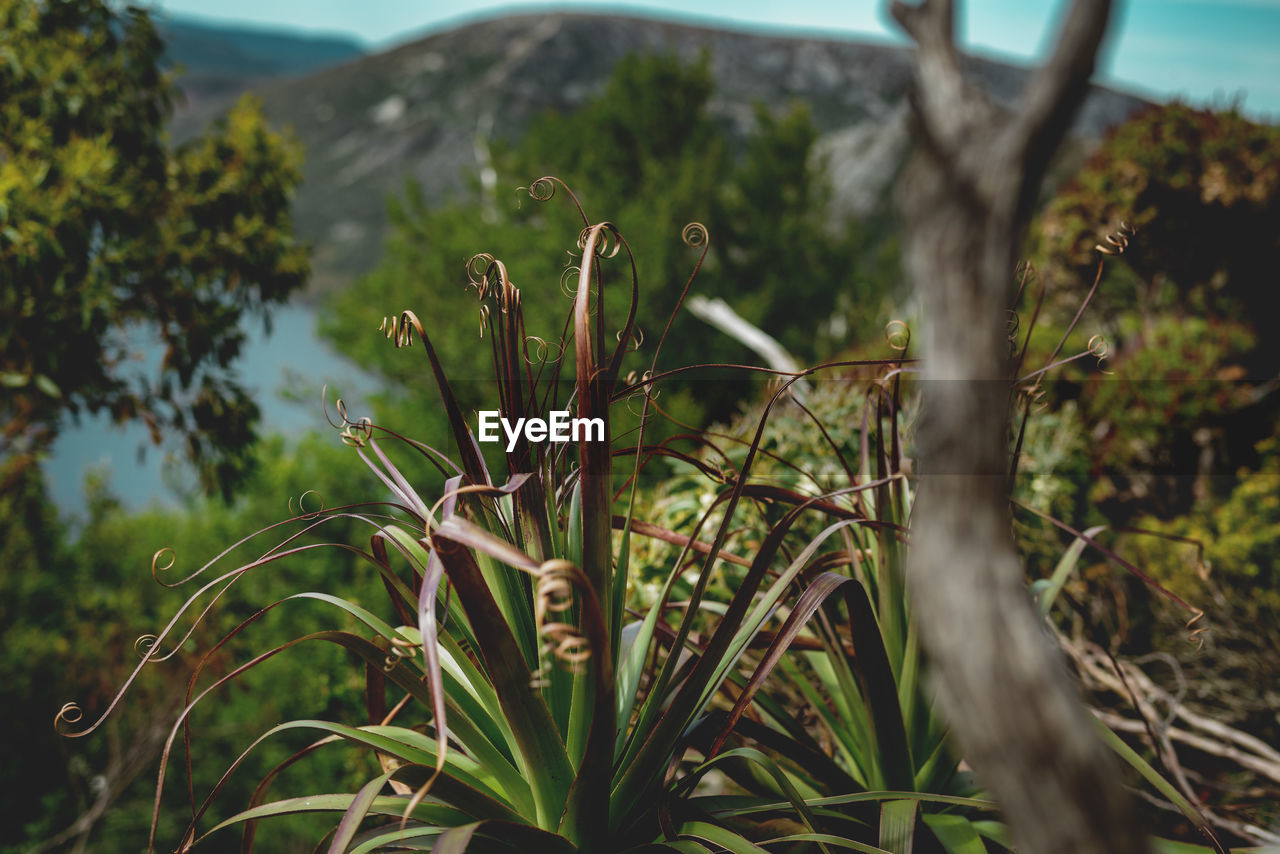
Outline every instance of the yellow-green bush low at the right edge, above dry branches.
<svg viewBox="0 0 1280 854">
<path fill-rule="evenodd" d="M 1185 704 L 1219 725 L 1265 744 L 1280 740 L 1280 440 L 1258 443 L 1258 465 L 1219 488 L 1185 515 L 1137 520 L 1143 533 L 1124 536 L 1120 548 L 1170 590 L 1199 604 L 1199 644 L 1187 641 L 1184 611 L 1132 602 L 1116 608 L 1123 620 L 1152 625 L 1149 635 L 1130 636 L 1132 654 L 1149 653 L 1172 668 L 1155 676 L 1166 690 L 1185 693 Z M 1221 483 L 1221 481 L 1225 481 Z M 1265 776 L 1206 762 L 1207 785 L 1221 786 L 1219 808 L 1274 825 L 1275 784 Z M 1270 823 L 1268 823 L 1270 822 Z"/>
</svg>

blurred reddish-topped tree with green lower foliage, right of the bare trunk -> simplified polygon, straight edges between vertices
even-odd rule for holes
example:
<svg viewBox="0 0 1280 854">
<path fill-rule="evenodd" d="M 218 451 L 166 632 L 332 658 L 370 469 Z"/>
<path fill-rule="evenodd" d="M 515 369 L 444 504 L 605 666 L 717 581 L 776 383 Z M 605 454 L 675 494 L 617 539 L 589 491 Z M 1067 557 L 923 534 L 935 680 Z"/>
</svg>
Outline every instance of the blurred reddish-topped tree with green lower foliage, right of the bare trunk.
<svg viewBox="0 0 1280 854">
<path fill-rule="evenodd" d="M 1062 307 L 1123 222 L 1137 230 L 1093 309 L 1116 376 L 1059 392 L 1079 394 L 1096 439 L 1093 503 L 1112 521 L 1167 519 L 1256 466 L 1280 411 L 1280 339 L 1261 325 L 1280 310 L 1280 128 L 1170 104 L 1112 131 L 1036 229 Z"/>
</svg>

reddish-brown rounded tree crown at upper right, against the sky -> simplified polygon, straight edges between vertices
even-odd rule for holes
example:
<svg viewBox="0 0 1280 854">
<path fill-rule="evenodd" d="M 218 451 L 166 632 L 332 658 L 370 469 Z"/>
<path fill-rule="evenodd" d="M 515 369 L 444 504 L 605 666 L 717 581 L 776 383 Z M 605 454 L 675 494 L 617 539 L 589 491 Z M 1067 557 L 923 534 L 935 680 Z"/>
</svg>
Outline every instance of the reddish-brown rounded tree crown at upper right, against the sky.
<svg viewBox="0 0 1280 854">
<path fill-rule="evenodd" d="M 1236 110 L 1148 108 L 1115 128 L 1053 198 L 1037 255 L 1079 288 L 1092 280 L 1100 232 L 1121 220 L 1137 228 L 1124 254 L 1137 282 L 1171 284 L 1164 307 L 1274 314 L 1280 128 Z M 1121 305 L 1142 296 L 1103 293 Z"/>
</svg>

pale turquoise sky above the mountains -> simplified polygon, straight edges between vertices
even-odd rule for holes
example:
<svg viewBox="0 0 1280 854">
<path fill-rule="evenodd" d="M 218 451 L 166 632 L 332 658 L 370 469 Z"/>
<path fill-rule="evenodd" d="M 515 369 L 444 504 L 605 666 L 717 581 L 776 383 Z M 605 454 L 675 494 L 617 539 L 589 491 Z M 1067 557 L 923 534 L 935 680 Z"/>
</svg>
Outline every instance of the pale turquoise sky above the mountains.
<svg viewBox="0 0 1280 854">
<path fill-rule="evenodd" d="M 155 0 L 161 12 L 216 22 L 355 36 L 370 49 L 508 12 L 582 9 L 660 15 L 763 31 L 900 40 L 887 0 Z M 1052 44 L 1061 0 L 961 3 L 961 40 L 974 52 L 1034 59 Z M 1256 118 L 1280 122 L 1280 0 L 1117 1 L 1103 82 L 1143 95 L 1224 106 L 1243 96 Z"/>
</svg>

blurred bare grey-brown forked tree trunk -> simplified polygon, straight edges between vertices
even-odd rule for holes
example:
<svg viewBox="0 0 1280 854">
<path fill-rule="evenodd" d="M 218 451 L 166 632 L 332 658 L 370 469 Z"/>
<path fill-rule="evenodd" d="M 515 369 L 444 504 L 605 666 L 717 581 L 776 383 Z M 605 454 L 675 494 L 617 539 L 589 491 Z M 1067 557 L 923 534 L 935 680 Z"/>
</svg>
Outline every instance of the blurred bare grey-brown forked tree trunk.
<svg viewBox="0 0 1280 854">
<path fill-rule="evenodd" d="M 1053 55 L 1001 113 L 965 83 L 954 0 L 892 4 L 918 45 L 922 145 L 901 201 L 928 380 L 908 583 L 943 713 L 1023 854 L 1149 850 L 1117 763 L 1032 611 L 1009 522 L 1015 252 L 1110 12 L 1110 0 L 1074 0 Z"/>
</svg>

